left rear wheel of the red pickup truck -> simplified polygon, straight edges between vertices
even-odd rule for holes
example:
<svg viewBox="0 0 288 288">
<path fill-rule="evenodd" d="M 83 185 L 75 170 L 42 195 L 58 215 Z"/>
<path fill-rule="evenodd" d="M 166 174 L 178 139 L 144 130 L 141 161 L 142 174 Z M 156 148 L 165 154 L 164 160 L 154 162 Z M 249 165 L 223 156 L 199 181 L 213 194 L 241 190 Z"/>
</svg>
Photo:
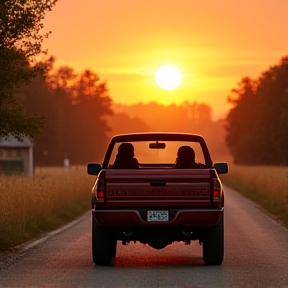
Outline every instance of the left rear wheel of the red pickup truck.
<svg viewBox="0 0 288 288">
<path fill-rule="evenodd" d="M 112 239 L 109 231 L 98 226 L 92 215 L 92 258 L 95 265 L 104 266 L 111 264 L 111 247 Z"/>
</svg>

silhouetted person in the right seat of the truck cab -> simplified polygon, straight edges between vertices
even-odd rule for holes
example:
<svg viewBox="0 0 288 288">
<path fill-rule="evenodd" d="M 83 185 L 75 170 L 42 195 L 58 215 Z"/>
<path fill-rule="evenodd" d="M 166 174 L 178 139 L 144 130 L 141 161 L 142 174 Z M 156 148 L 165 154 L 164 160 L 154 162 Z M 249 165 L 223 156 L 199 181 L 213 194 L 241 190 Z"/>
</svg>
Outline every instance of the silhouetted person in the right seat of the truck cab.
<svg viewBox="0 0 288 288">
<path fill-rule="evenodd" d="M 176 169 L 200 168 L 205 165 L 195 162 L 195 152 L 190 146 L 181 146 L 177 151 Z"/>
</svg>

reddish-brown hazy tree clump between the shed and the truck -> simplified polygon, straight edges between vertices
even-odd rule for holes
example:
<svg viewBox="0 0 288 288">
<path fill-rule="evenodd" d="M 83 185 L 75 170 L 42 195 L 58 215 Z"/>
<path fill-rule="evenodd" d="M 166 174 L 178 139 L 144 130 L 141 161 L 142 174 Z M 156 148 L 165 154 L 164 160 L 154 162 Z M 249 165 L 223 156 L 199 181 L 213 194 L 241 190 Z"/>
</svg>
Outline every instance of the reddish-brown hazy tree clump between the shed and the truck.
<svg viewBox="0 0 288 288">
<path fill-rule="evenodd" d="M 70 67 L 53 68 L 17 92 L 27 114 L 45 116 L 42 132 L 34 138 L 36 166 L 86 164 L 102 158 L 108 141 L 112 100 L 107 84 L 90 70 L 75 73 Z"/>
</svg>

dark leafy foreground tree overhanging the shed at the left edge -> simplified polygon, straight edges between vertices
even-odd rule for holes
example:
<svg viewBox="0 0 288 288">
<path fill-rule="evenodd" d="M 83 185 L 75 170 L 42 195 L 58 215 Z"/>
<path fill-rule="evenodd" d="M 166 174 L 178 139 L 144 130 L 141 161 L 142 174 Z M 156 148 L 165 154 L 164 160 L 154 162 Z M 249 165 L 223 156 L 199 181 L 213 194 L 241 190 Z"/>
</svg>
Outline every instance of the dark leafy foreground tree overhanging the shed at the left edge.
<svg viewBox="0 0 288 288">
<path fill-rule="evenodd" d="M 0 136 L 34 137 L 43 116 L 29 116 L 15 92 L 45 70 L 36 57 L 49 33 L 41 34 L 42 20 L 57 0 L 0 0 Z"/>
</svg>

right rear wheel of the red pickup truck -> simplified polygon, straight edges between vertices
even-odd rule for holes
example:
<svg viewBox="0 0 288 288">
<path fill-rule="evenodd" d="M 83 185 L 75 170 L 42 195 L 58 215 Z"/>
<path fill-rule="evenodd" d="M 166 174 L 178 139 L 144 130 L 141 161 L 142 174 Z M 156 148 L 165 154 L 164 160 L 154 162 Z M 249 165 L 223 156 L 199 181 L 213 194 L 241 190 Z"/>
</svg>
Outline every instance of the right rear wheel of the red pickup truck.
<svg viewBox="0 0 288 288">
<path fill-rule="evenodd" d="M 217 226 L 209 228 L 203 239 L 203 259 L 206 265 L 221 265 L 224 258 L 223 215 Z"/>
</svg>

